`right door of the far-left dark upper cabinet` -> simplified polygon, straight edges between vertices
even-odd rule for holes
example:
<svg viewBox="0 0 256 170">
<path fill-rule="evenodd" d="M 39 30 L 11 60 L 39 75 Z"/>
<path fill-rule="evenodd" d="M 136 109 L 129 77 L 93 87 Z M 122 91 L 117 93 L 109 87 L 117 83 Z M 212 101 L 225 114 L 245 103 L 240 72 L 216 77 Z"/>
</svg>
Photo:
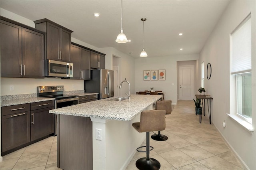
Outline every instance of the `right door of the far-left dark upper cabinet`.
<svg viewBox="0 0 256 170">
<path fill-rule="evenodd" d="M 22 28 L 22 77 L 44 78 L 44 34 Z"/>
</svg>

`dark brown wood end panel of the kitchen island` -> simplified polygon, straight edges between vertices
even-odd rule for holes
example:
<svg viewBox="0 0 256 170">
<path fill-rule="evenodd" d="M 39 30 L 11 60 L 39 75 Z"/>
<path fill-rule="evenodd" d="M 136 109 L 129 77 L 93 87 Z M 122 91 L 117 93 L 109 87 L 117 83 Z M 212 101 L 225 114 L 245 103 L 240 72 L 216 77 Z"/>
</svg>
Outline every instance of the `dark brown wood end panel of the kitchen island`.
<svg viewBox="0 0 256 170">
<path fill-rule="evenodd" d="M 57 162 L 64 170 L 92 170 L 92 121 L 58 115 Z"/>
</svg>

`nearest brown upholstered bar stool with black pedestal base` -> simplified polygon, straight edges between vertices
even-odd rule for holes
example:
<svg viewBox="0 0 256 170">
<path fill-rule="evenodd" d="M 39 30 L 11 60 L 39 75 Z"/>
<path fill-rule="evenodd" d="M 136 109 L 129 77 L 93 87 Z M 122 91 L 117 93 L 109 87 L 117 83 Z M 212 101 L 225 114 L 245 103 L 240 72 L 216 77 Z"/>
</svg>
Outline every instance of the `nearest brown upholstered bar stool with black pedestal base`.
<svg viewBox="0 0 256 170">
<path fill-rule="evenodd" d="M 143 111 L 140 114 L 140 122 L 132 123 L 132 127 L 138 132 L 146 132 L 146 158 L 138 159 L 136 167 L 140 170 L 160 169 L 161 165 L 158 160 L 149 157 L 149 132 L 165 129 L 165 110 Z"/>
</svg>

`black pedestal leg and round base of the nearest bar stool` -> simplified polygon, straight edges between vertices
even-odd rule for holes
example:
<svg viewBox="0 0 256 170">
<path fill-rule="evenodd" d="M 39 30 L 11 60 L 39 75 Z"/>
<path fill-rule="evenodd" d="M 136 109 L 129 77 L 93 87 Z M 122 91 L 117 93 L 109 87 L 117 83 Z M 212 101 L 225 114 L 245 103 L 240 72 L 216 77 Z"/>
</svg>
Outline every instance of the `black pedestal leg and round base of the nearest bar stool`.
<svg viewBox="0 0 256 170">
<path fill-rule="evenodd" d="M 136 161 L 136 167 L 139 170 L 159 170 L 160 163 L 158 160 L 149 157 L 149 132 L 146 132 L 146 158 L 140 158 Z"/>
</svg>

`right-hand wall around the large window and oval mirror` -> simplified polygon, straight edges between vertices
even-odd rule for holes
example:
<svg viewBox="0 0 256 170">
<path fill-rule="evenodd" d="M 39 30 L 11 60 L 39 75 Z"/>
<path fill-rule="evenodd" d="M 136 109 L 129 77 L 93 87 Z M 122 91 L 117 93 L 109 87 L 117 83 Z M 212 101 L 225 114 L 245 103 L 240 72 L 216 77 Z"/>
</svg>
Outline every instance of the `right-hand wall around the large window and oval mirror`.
<svg viewBox="0 0 256 170">
<path fill-rule="evenodd" d="M 245 130 L 226 115 L 230 113 L 230 33 L 252 12 L 252 103 L 256 103 L 256 1 L 230 1 L 200 53 L 200 61 L 212 65 L 212 77 L 205 88 L 212 100 L 212 122 L 234 149 L 246 168 L 256 169 L 256 134 Z M 198 71 L 200 75 L 200 70 Z M 200 77 L 198 77 L 200 82 Z M 231 113 L 233 114 L 233 113 Z M 226 127 L 222 122 L 226 121 Z M 252 126 L 256 127 L 256 106 L 252 106 Z"/>
</svg>

